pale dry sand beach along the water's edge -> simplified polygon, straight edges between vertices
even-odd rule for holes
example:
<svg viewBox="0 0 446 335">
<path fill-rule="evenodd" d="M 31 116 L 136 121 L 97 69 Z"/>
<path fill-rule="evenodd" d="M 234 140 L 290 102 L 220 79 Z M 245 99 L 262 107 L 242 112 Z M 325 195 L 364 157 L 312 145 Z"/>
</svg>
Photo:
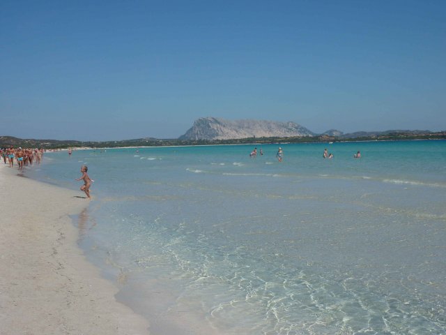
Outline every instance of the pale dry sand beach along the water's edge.
<svg viewBox="0 0 446 335">
<path fill-rule="evenodd" d="M 73 179 L 77 176 L 73 176 Z M 149 334 L 77 246 L 84 194 L 0 165 L 0 334 Z"/>
</svg>

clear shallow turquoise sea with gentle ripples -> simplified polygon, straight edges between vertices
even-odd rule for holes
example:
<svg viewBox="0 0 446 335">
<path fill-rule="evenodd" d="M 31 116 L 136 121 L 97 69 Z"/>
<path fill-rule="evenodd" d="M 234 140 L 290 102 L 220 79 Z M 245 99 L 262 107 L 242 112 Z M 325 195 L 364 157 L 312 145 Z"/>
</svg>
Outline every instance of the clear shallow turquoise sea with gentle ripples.
<svg viewBox="0 0 446 335">
<path fill-rule="evenodd" d="M 151 334 L 446 334 L 445 140 L 57 151 L 24 173 L 89 201 L 81 165 L 79 246 Z"/>
</svg>

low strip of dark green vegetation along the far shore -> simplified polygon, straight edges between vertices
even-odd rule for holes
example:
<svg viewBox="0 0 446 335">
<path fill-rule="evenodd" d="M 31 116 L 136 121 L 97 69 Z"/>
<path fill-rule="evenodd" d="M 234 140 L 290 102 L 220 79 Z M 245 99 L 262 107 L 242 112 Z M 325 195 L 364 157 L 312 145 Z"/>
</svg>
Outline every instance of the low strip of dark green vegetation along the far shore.
<svg viewBox="0 0 446 335">
<path fill-rule="evenodd" d="M 69 147 L 119 148 L 119 147 L 168 147 L 180 145 L 215 145 L 215 144 L 283 144 L 309 142 L 359 142 L 359 141 L 394 141 L 394 140 L 446 140 L 446 131 L 437 133 L 383 133 L 363 137 L 335 137 L 318 135 L 314 137 L 248 137 L 233 140 L 160 140 L 152 137 L 136 140 L 82 142 L 76 140 L 31 140 L 11 136 L 0 136 L 0 147 L 29 147 L 43 149 L 67 149 Z"/>
</svg>

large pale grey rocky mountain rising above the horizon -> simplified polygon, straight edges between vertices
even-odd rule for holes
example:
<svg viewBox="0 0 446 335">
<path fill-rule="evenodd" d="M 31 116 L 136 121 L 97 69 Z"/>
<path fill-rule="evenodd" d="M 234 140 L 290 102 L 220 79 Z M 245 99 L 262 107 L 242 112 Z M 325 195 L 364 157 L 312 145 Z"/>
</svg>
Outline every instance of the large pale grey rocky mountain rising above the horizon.
<svg viewBox="0 0 446 335">
<path fill-rule="evenodd" d="M 314 133 L 295 122 L 226 120 L 201 117 L 178 140 L 233 140 L 248 137 L 312 137 Z"/>
</svg>

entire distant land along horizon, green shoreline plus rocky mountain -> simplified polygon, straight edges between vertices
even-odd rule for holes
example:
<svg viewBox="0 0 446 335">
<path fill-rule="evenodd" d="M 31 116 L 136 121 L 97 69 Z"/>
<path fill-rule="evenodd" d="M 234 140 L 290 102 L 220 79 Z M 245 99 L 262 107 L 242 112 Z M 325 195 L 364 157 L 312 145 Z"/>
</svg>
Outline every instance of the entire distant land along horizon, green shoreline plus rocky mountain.
<svg viewBox="0 0 446 335">
<path fill-rule="evenodd" d="M 114 148 L 114 147 L 167 147 L 178 145 L 211 144 L 268 144 L 303 142 L 349 142 L 390 140 L 444 140 L 446 131 L 359 131 L 344 134 L 330 129 L 316 134 L 295 122 L 265 120 L 227 120 L 203 117 L 194 121 L 192 127 L 177 139 L 144 137 L 134 140 L 79 141 L 79 140 L 36 140 L 0 136 L 0 147 L 33 147 L 44 149 L 67 149 L 69 147 Z"/>
</svg>

